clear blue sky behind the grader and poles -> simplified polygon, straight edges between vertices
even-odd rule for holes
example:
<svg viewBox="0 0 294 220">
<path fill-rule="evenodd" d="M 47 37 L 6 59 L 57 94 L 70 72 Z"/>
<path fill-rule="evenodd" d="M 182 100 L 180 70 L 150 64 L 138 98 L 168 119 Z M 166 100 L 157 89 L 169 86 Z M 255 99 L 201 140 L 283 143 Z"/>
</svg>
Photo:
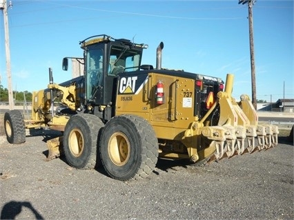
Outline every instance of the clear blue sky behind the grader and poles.
<svg viewBox="0 0 294 220">
<path fill-rule="evenodd" d="M 55 83 L 70 79 L 63 57 L 81 57 L 79 41 L 96 34 L 149 45 L 143 63 L 226 79 L 235 74 L 233 97 L 251 97 L 248 7 L 230 1 L 13 0 L 8 9 L 12 86 L 41 90 L 48 68 Z M 253 7 L 257 99 L 293 99 L 293 1 L 258 0 Z M 7 88 L 3 13 L 0 75 Z M 284 87 L 285 85 L 285 87 Z"/>
</svg>

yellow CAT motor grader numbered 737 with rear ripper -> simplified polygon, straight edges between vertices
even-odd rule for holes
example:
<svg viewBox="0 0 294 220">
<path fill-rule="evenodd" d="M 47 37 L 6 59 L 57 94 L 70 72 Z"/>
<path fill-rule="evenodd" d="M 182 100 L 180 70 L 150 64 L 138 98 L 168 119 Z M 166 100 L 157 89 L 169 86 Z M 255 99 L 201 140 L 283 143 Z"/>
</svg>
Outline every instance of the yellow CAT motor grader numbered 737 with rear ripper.
<svg viewBox="0 0 294 220">
<path fill-rule="evenodd" d="M 48 141 L 48 159 L 65 154 L 70 166 L 95 168 L 101 162 L 110 177 L 127 181 L 146 177 L 158 157 L 222 159 L 277 145 L 277 126 L 258 124 L 249 97 L 231 96 L 218 77 L 142 65 L 144 43 L 101 34 L 80 42 L 84 76 L 53 83 L 33 93 L 32 116 L 6 112 L 9 143 L 26 141 L 26 128 L 59 130 Z M 72 57 L 71 57 L 72 58 Z M 63 59 L 68 70 L 68 58 Z M 55 103 L 62 106 L 55 108 Z"/>
</svg>

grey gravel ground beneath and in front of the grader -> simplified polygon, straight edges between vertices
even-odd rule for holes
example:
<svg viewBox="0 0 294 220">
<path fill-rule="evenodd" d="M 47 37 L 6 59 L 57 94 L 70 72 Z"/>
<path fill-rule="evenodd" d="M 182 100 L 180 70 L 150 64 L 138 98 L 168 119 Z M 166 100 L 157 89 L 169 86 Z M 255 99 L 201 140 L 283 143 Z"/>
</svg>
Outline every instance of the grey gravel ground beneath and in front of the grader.
<svg viewBox="0 0 294 220">
<path fill-rule="evenodd" d="M 159 160 L 146 179 L 46 161 L 46 139 L 0 137 L 1 219 L 294 219 L 293 145 L 203 167 Z"/>
</svg>

